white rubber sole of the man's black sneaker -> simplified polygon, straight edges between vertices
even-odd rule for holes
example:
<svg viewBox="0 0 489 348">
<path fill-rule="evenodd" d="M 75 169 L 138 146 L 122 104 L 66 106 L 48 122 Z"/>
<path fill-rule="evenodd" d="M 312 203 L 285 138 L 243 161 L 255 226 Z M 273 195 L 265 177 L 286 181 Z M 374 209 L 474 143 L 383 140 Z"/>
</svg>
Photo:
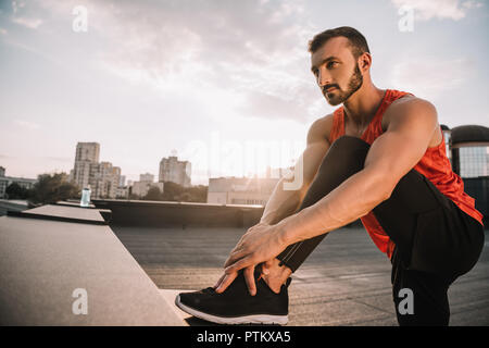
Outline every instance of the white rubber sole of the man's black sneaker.
<svg viewBox="0 0 489 348">
<path fill-rule="evenodd" d="M 184 312 L 187 312 L 193 316 L 206 320 L 208 322 L 213 322 L 217 324 L 279 324 L 285 325 L 288 323 L 289 319 L 287 315 L 269 315 L 269 314 L 254 314 L 254 315 L 243 315 L 243 316 L 217 316 L 208 314 L 191 307 L 185 306 L 180 302 L 180 296 L 175 298 L 175 304 Z"/>
</svg>

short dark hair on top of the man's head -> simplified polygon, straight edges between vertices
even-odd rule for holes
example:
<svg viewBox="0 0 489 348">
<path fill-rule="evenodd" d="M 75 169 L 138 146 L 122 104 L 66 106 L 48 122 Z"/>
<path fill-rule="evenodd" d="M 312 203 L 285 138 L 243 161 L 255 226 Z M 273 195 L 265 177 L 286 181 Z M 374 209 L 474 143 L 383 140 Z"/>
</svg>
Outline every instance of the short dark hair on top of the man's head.
<svg viewBox="0 0 489 348">
<path fill-rule="evenodd" d="M 371 52 L 365 37 L 362 35 L 362 33 L 360 33 L 355 28 L 352 28 L 351 26 L 340 26 L 338 28 L 327 29 L 315 35 L 314 38 L 309 41 L 309 51 L 311 53 L 314 53 L 327 40 L 338 36 L 343 36 L 350 41 L 351 52 L 353 53 L 354 58 L 359 58 L 364 52 Z"/>
</svg>

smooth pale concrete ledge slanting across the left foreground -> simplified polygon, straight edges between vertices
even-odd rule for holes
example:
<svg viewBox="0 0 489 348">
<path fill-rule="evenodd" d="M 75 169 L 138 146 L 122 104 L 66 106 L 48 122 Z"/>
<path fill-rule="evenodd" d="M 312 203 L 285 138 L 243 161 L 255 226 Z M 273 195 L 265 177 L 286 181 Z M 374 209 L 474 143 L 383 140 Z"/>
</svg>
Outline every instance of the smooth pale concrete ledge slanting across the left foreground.
<svg viewBox="0 0 489 348">
<path fill-rule="evenodd" d="M 0 217 L 0 325 L 187 325 L 93 222 L 104 222 L 99 209 L 70 204 Z"/>
</svg>

